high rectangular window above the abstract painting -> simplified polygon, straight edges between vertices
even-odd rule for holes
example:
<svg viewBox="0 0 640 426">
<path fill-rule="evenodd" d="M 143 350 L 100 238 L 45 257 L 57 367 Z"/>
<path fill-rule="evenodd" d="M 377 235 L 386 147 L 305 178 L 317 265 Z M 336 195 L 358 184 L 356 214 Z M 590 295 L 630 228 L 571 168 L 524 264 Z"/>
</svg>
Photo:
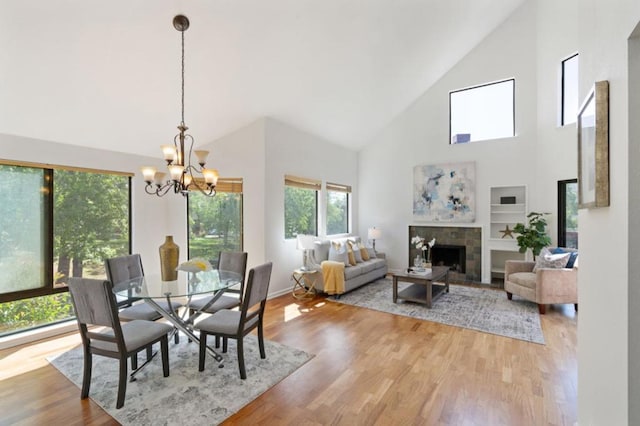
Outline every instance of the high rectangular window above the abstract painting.
<svg viewBox="0 0 640 426">
<path fill-rule="evenodd" d="M 449 93 L 449 143 L 515 136 L 515 80 Z"/>
</svg>

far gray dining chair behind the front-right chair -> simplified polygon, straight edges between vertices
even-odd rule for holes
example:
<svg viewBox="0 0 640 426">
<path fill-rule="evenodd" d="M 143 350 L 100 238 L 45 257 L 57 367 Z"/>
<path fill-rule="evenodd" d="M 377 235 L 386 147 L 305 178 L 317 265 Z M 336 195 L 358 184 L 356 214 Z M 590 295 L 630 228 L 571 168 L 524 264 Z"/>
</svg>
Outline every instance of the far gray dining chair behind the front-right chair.
<svg viewBox="0 0 640 426">
<path fill-rule="evenodd" d="M 247 272 L 247 257 L 246 252 L 228 252 L 221 251 L 218 255 L 218 269 L 222 271 L 231 271 L 240 274 L 240 286 L 239 288 L 228 288 L 225 293 L 236 293 L 237 296 L 227 296 L 223 294 L 218 300 L 202 312 L 213 314 L 221 309 L 233 309 L 240 306 L 242 302 L 242 296 L 244 294 L 244 277 Z M 211 301 L 212 296 L 203 297 L 201 299 L 192 300 L 189 303 L 189 309 L 193 311 L 199 311 Z"/>
</svg>

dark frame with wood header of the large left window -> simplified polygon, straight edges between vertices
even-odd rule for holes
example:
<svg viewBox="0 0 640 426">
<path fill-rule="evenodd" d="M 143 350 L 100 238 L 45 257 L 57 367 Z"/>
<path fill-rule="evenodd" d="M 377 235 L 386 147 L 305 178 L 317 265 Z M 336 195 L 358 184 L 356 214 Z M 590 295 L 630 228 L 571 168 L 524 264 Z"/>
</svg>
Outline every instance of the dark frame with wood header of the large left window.
<svg viewBox="0 0 640 426">
<path fill-rule="evenodd" d="M 132 250 L 132 178 L 133 173 L 127 172 L 118 172 L 111 170 L 101 170 L 101 169 L 91 169 L 86 167 L 72 167 L 72 166 L 62 166 L 62 165 L 52 165 L 52 164 L 42 164 L 42 163 L 33 163 L 27 161 L 14 161 L 14 160 L 5 160 L 0 159 L 0 165 L 2 166 L 17 166 L 17 167 L 26 167 L 26 168 L 34 168 L 34 169 L 42 169 L 44 171 L 43 175 L 43 188 L 45 188 L 45 230 L 46 230 L 46 240 L 43 242 L 44 251 L 45 251 L 45 263 L 44 263 L 44 286 L 39 288 L 27 289 L 27 290 L 19 290 L 13 291 L 9 293 L 0 293 L 0 303 L 8 303 L 15 302 L 24 299 L 30 299 L 41 296 L 50 296 L 59 293 L 68 292 L 69 289 L 66 285 L 56 286 L 54 282 L 54 171 L 55 170 L 64 170 L 64 171 L 72 171 L 72 172 L 82 172 L 82 173 L 95 173 L 95 174 L 108 174 L 108 175 L 116 175 L 127 177 L 128 180 L 128 188 L 129 194 L 127 197 L 128 202 L 128 224 L 129 227 L 127 229 L 127 233 L 129 235 L 129 247 L 128 251 L 131 253 Z"/>
</svg>

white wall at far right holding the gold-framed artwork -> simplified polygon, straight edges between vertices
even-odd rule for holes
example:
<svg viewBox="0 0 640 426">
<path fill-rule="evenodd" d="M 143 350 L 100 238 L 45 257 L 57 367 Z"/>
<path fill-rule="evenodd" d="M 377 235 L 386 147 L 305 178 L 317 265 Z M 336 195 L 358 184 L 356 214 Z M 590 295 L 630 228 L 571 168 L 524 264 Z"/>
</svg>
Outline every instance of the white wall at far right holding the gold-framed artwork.
<svg viewBox="0 0 640 426">
<path fill-rule="evenodd" d="M 637 173 L 629 174 L 630 153 L 637 141 L 629 141 L 628 38 L 640 21 L 637 0 L 580 0 L 579 4 L 580 95 L 593 83 L 609 80 L 609 174 L 611 206 L 580 210 L 580 269 L 578 294 L 578 421 L 581 425 L 638 424 L 629 418 L 637 405 L 629 393 L 630 370 L 638 358 L 629 357 L 630 315 L 637 324 L 638 312 L 629 312 L 629 297 L 638 297 L 637 247 L 639 229 L 629 227 L 637 216 Z M 636 77 L 635 90 L 638 90 Z M 637 112 L 637 110 L 636 110 Z M 635 135 L 637 137 L 637 134 Z M 637 158 L 637 154 L 635 157 Z M 633 165 L 635 169 L 635 164 Z M 632 180 L 630 180 L 632 178 Z M 630 194 L 636 200 L 629 203 Z M 635 223 L 635 222 L 634 222 Z M 633 286 L 633 292 L 630 292 Z M 637 303 L 637 301 L 635 301 Z M 636 409 L 637 416 L 637 409 Z"/>
</svg>

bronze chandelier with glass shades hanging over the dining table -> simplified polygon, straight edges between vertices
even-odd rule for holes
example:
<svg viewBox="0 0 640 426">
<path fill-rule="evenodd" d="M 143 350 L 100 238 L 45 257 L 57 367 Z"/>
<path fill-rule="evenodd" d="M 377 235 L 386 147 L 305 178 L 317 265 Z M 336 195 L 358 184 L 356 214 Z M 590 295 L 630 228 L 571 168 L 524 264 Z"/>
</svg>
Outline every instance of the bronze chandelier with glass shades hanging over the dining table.
<svg viewBox="0 0 640 426">
<path fill-rule="evenodd" d="M 173 27 L 182 34 L 182 86 L 181 108 L 182 116 L 178 130 L 173 138 L 173 145 L 162 145 L 162 153 L 169 169 L 169 179 L 166 173 L 158 172 L 155 167 L 143 167 L 142 175 L 147 183 L 144 190 L 147 194 L 162 197 L 171 189 L 173 192 L 186 196 L 190 191 L 200 191 L 213 197 L 216 195 L 218 171 L 205 168 L 209 151 L 193 150 L 193 137 L 186 133 L 189 129 L 184 124 L 184 32 L 189 28 L 189 19 L 184 15 L 173 18 Z M 185 144 L 189 145 L 188 155 L 185 156 Z M 197 164 L 191 161 L 191 154 L 195 154 Z"/>
</svg>

